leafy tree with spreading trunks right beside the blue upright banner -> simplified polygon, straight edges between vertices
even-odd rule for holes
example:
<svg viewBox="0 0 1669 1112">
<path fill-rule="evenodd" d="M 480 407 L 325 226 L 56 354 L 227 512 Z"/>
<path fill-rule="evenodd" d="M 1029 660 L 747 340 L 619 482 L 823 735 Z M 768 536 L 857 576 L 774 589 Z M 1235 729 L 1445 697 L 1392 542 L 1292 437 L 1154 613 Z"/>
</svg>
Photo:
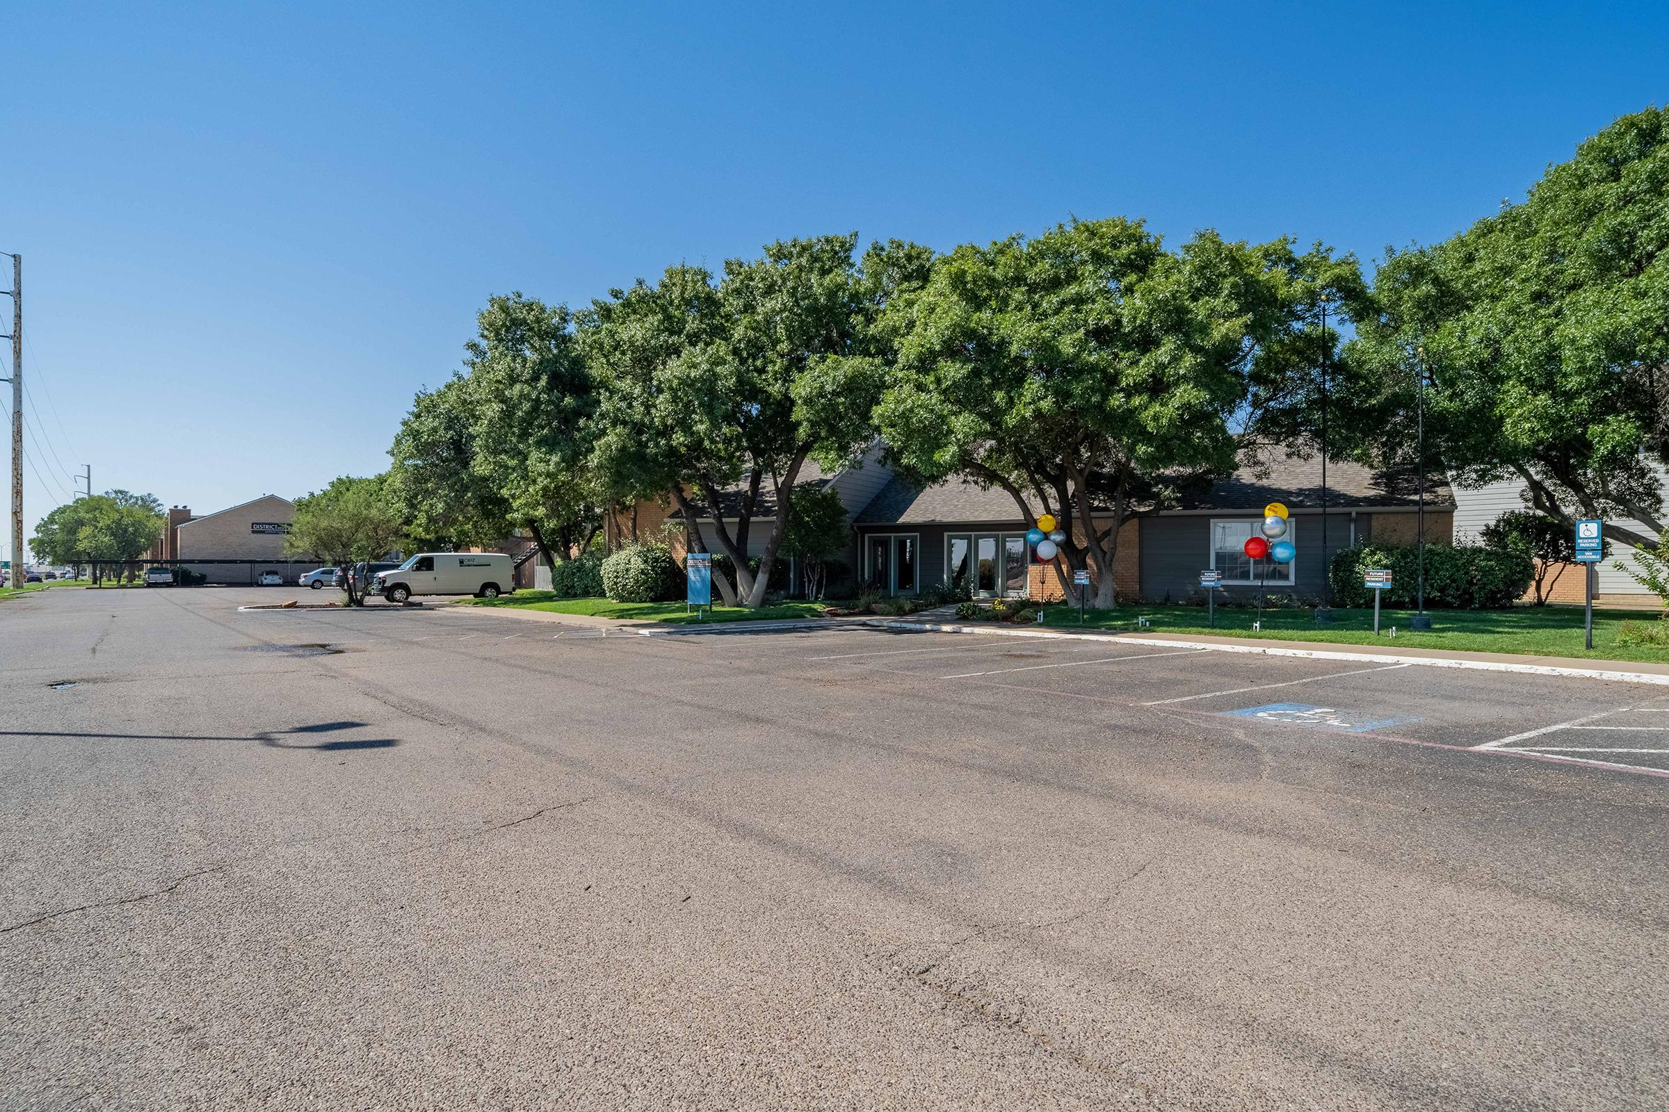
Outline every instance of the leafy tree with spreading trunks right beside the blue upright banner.
<svg viewBox="0 0 1669 1112">
<path fill-rule="evenodd" d="M 729 260 L 714 282 L 673 267 L 654 287 L 613 290 L 586 315 L 586 350 L 601 382 L 596 467 L 619 500 L 669 497 L 693 550 L 713 522 L 726 604 L 758 607 L 793 515 L 808 458 L 838 467 L 873 440 L 871 413 L 891 362 L 878 320 L 916 288 L 931 253 L 856 235 L 771 243 Z M 749 572 L 754 518 L 769 483 L 776 502 L 759 575 Z"/>
</svg>

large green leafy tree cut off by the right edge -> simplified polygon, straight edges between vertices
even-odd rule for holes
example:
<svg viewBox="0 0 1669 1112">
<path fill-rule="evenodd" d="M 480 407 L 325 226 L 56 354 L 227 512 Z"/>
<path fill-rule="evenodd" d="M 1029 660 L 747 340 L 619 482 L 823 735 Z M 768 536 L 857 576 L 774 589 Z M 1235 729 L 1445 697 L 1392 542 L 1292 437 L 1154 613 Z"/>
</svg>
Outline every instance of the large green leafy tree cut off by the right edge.
<svg viewBox="0 0 1669 1112">
<path fill-rule="evenodd" d="M 1669 110 L 1614 122 L 1507 205 L 1434 247 L 1387 252 L 1350 357 L 1379 382 L 1377 453 L 1455 482 L 1525 483 L 1564 528 L 1654 543 L 1669 458 Z M 1654 467 L 1656 465 L 1656 467 Z M 1647 530 L 1619 523 L 1642 522 Z"/>
</svg>

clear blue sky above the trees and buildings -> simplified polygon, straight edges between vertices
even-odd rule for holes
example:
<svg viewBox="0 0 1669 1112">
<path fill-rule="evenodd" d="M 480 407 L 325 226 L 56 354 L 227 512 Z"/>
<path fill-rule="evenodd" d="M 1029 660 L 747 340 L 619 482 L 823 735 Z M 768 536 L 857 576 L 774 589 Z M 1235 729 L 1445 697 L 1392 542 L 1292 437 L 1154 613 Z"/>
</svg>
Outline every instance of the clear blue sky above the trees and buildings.
<svg viewBox="0 0 1669 1112">
<path fill-rule="evenodd" d="M 1068 215 L 1372 260 L 1669 98 L 1662 3 L 335 7 L 8 8 L 28 525 L 83 463 L 197 512 L 381 470 L 491 293 Z"/>
</svg>

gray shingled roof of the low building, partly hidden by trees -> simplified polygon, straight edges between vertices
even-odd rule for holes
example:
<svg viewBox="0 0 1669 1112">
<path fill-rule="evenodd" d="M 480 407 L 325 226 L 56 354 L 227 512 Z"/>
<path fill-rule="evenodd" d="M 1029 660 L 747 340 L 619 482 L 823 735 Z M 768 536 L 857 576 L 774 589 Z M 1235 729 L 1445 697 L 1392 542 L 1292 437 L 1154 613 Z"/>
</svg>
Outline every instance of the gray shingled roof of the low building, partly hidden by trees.
<svg viewBox="0 0 1669 1112">
<path fill-rule="evenodd" d="M 1240 468 L 1212 483 L 1208 492 L 1183 497 L 1178 510 L 1262 510 L 1270 502 L 1307 510 L 1322 505 L 1322 462 L 1280 460 L 1265 478 Z M 1327 462 L 1327 505 L 1345 508 L 1415 505 L 1414 470 L 1374 472 L 1344 460 Z M 1425 505 L 1447 508 L 1454 493 L 1442 475 L 1427 475 Z M 1041 507 L 1033 507 L 1038 512 Z M 916 488 L 896 475 L 863 507 L 858 525 L 910 525 L 928 522 L 1018 522 L 1015 500 L 1006 490 L 981 490 L 966 478 L 950 478 Z"/>
</svg>

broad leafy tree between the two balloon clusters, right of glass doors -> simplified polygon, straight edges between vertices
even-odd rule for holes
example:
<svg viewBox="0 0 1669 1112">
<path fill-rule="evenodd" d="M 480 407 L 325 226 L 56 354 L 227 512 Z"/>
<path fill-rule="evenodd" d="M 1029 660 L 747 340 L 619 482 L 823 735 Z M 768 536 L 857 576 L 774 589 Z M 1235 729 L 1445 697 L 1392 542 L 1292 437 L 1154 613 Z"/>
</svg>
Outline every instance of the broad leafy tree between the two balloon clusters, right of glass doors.
<svg viewBox="0 0 1669 1112">
<path fill-rule="evenodd" d="M 958 247 L 883 322 L 898 367 L 876 420 L 908 473 L 1000 487 L 1028 523 L 1053 513 L 1112 607 L 1123 522 L 1272 440 L 1302 448 L 1324 295 L 1360 297 L 1355 260 L 1287 240 L 1202 232 L 1167 252 L 1113 218 Z"/>
</svg>

